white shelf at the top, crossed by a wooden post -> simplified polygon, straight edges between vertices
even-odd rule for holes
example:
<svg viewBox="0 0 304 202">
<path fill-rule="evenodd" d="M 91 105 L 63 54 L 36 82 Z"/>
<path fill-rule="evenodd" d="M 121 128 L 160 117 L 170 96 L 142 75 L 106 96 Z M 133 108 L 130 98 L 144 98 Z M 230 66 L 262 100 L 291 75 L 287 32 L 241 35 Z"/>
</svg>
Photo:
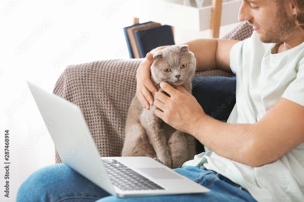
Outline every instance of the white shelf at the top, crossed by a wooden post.
<svg viewBox="0 0 304 202">
<path fill-rule="evenodd" d="M 203 31 L 210 29 L 212 6 L 195 8 L 162 0 L 132 0 L 132 14 L 136 18 L 147 18 L 150 21 L 165 25 Z M 220 25 L 239 22 L 238 12 L 241 0 L 224 2 Z M 219 8 L 215 8 L 219 10 Z"/>
</svg>

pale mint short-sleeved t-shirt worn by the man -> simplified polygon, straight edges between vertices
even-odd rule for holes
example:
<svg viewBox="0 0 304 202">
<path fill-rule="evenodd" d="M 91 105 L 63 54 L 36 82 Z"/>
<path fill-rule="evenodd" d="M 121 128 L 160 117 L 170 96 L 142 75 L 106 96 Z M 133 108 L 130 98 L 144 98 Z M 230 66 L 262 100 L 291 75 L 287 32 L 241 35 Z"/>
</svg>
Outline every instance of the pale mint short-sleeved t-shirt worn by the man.
<svg viewBox="0 0 304 202">
<path fill-rule="evenodd" d="M 230 67 L 237 75 L 237 92 L 236 104 L 227 123 L 253 124 L 281 97 L 304 106 L 304 42 L 290 50 L 271 54 L 276 46 L 260 42 L 254 31 L 250 38 L 231 49 Z M 240 137 L 239 144 L 250 133 L 251 130 Z M 286 148 L 293 143 L 290 139 Z M 233 152 L 233 149 L 231 147 L 227 152 Z M 240 184 L 257 201 L 304 201 L 304 143 L 261 167 L 250 167 L 213 151 L 196 155 L 183 167 L 202 164 Z"/>
</svg>

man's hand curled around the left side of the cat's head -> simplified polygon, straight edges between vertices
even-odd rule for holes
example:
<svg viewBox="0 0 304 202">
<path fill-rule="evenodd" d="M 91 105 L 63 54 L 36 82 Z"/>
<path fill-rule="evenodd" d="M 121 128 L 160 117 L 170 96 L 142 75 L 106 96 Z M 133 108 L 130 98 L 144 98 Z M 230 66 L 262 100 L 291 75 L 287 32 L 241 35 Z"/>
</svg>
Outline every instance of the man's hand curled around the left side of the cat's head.
<svg viewBox="0 0 304 202">
<path fill-rule="evenodd" d="M 152 106 L 154 102 L 151 92 L 154 94 L 158 92 L 150 80 L 150 71 L 153 61 L 152 53 L 147 53 L 146 59 L 140 64 L 136 71 L 136 95 L 140 103 L 147 110 L 150 109 L 150 105 Z"/>
</svg>

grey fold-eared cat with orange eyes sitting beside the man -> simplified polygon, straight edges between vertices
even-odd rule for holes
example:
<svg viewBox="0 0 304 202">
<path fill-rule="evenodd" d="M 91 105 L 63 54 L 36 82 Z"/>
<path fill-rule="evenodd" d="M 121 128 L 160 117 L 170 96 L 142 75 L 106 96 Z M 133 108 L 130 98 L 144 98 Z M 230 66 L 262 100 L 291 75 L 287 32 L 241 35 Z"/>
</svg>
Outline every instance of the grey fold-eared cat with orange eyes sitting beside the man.
<svg viewBox="0 0 304 202">
<path fill-rule="evenodd" d="M 155 52 L 153 59 L 150 79 L 158 91 L 163 91 L 159 84 L 166 81 L 191 93 L 196 60 L 188 45 L 169 46 Z M 170 168 L 181 167 L 195 155 L 195 138 L 158 118 L 157 109 L 153 105 L 145 110 L 134 96 L 127 115 L 122 156 L 147 156 Z"/>
</svg>

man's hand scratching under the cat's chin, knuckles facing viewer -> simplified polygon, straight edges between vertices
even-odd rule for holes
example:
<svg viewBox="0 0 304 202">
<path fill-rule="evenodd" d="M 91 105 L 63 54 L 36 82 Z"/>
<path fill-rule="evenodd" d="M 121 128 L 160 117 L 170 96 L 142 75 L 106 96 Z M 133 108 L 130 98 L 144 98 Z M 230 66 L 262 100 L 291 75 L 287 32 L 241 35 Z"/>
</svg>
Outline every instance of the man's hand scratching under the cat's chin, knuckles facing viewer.
<svg viewBox="0 0 304 202">
<path fill-rule="evenodd" d="M 154 104 L 158 110 L 156 116 L 175 129 L 192 134 L 195 123 L 202 117 L 207 116 L 196 99 L 183 87 L 173 88 L 166 82 L 161 82 L 164 92 L 157 92 Z"/>
</svg>

